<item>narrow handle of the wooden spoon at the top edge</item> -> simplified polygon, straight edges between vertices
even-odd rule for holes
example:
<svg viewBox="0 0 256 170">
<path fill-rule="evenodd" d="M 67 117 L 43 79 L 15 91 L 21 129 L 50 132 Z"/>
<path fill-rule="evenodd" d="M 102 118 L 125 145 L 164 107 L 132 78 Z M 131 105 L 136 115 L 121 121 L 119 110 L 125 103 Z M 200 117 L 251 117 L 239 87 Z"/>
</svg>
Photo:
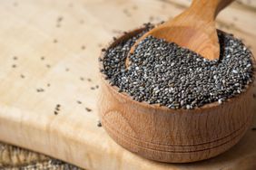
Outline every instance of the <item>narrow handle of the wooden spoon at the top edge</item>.
<svg viewBox="0 0 256 170">
<path fill-rule="evenodd" d="M 193 0 L 190 10 L 205 20 L 215 20 L 217 14 L 234 0 Z"/>
</svg>

